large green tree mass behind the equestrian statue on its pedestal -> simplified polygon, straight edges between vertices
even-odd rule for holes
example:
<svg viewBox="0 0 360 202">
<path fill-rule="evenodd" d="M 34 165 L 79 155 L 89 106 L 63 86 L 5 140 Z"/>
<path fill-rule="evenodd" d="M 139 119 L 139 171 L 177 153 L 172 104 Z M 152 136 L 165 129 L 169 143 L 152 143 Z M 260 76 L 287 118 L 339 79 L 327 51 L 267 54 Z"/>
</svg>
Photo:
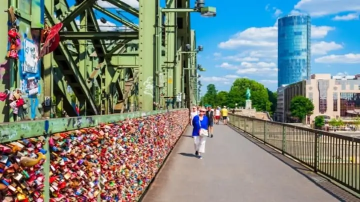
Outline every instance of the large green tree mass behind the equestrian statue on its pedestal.
<svg viewBox="0 0 360 202">
<path fill-rule="evenodd" d="M 269 111 L 271 102 L 268 100 L 266 88 L 261 83 L 246 78 L 238 78 L 232 83 L 227 106 L 230 108 L 234 108 L 235 104 L 245 106 L 247 88 L 251 91 L 252 107 L 257 111 Z"/>
</svg>

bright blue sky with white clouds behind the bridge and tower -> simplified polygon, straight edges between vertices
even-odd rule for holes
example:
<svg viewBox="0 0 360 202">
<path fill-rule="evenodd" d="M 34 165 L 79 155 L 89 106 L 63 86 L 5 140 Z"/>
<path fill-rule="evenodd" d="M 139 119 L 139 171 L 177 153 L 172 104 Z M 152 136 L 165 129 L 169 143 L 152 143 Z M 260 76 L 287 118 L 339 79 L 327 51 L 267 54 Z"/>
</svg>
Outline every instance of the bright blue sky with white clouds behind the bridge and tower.
<svg viewBox="0 0 360 202">
<path fill-rule="evenodd" d="M 137 0 L 123 0 L 138 7 Z M 164 1 L 164 0 L 161 0 Z M 67 0 L 73 5 L 74 0 Z M 191 0 L 193 5 L 194 0 Z M 97 3 L 116 12 L 112 4 Z M 217 90 L 228 91 L 236 78 L 249 78 L 272 91 L 277 88 L 277 18 L 292 13 L 311 16 L 311 74 L 332 75 L 360 73 L 360 0 L 205 0 L 216 7 L 216 17 L 191 13 L 191 28 L 196 31 L 197 45 L 203 45 L 198 64 L 202 89 L 213 83 Z M 119 12 L 138 23 L 136 17 Z M 113 19 L 104 17 L 103 30 L 125 29 Z"/>
</svg>

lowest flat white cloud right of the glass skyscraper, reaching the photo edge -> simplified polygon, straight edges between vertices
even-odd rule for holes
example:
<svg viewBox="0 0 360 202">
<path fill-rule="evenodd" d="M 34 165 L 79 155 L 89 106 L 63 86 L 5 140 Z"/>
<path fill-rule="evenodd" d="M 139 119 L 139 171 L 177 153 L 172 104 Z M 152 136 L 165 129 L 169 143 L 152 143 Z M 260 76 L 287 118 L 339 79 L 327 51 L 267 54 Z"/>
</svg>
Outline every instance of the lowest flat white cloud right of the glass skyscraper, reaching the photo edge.
<svg viewBox="0 0 360 202">
<path fill-rule="evenodd" d="M 338 64 L 358 64 L 360 63 L 360 54 L 345 54 L 345 55 L 326 55 L 315 59 L 317 63 L 338 63 Z"/>
</svg>

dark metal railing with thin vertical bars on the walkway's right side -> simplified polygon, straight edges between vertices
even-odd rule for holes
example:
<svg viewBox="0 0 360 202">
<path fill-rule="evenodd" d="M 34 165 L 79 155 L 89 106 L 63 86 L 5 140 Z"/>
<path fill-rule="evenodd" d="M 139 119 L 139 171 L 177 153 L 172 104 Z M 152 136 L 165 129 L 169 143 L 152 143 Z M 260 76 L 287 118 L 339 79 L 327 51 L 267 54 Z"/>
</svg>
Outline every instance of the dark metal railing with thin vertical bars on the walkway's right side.
<svg viewBox="0 0 360 202">
<path fill-rule="evenodd" d="M 230 114 L 229 123 L 360 193 L 360 139 Z"/>
</svg>

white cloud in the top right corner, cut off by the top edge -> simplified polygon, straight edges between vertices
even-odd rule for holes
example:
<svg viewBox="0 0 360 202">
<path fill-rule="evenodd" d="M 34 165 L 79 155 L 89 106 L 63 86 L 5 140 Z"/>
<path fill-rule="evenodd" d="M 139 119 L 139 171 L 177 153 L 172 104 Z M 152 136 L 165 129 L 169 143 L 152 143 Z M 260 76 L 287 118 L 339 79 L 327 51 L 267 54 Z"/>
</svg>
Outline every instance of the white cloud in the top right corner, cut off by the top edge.
<svg viewBox="0 0 360 202">
<path fill-rule="evenodd" d="M 359 0 L 300 0 L 294 9 L 311 16 L 324 16 L 341 12 L 360 11 Z"/>
</svg>

